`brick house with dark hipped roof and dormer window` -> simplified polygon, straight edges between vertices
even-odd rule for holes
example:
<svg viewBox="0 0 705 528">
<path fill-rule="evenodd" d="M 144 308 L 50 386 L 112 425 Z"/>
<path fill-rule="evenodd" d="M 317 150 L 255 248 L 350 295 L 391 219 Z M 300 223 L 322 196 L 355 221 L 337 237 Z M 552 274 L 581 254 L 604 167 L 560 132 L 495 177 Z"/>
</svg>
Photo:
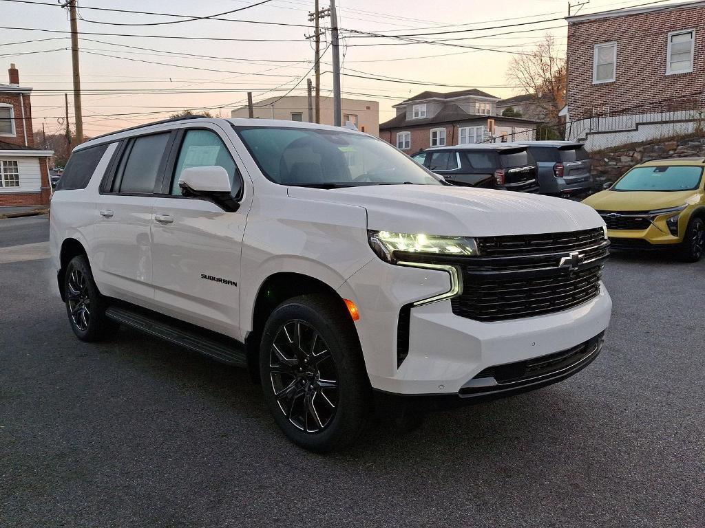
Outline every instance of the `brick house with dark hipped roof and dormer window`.
<svg viewBox="0 0 705 528">
<path fill-rule="evenodd" d="M 477 88 L 422 92 L 393 108 L 379 125 L 379 137 L 407 153 L 430 146 L 534 139 L 539 121 L 497 115 L 498 97 Z"/>
</svg>

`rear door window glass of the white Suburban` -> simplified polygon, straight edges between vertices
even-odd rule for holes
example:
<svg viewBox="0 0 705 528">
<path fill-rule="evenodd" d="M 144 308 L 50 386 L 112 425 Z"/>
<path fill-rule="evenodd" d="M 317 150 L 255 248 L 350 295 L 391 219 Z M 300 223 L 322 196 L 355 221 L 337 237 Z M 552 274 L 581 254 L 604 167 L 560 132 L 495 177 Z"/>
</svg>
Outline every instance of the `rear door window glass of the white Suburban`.
<svg viewBox="0 0 705 528">
<path fill-rule="evenodd" d="M 130 142 L 118 167 L 113 191 L 151 194 L 170 132 L 137 137 Z"/>
</svg>

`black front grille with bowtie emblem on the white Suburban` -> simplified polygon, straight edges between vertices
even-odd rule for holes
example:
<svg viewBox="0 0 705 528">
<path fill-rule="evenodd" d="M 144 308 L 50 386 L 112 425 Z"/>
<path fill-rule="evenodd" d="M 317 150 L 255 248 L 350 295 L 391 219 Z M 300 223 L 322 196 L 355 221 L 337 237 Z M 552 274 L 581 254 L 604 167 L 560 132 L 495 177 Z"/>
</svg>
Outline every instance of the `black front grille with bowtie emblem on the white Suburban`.
<svg viewBox="0 0 705 528">
<path fill-rule="evenodd" d="M 479 321 L 568 310 L 596 297 L 609 242 L 601 227 L 477 239 L 480 256 L 458 261 L 455 315 Z M 563 267 L 559 267 L 563 260 Z"/>
</svg>

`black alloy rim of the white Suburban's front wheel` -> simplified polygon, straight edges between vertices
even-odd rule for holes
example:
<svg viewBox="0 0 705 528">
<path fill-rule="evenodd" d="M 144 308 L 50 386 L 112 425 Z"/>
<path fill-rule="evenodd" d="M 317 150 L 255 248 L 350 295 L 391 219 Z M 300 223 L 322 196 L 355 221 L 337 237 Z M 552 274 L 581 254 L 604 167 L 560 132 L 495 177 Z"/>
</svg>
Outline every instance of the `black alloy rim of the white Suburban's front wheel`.
<svg viewBox="0 0 705 528">
<path fill-rule="evenodd" d="M 338 372 L 326 342 L 311 325 L 281 325 L 269 352 L 276 403 L 286 419 L 307 433 L 329 426 L 338 406 Z"/>
</svg>

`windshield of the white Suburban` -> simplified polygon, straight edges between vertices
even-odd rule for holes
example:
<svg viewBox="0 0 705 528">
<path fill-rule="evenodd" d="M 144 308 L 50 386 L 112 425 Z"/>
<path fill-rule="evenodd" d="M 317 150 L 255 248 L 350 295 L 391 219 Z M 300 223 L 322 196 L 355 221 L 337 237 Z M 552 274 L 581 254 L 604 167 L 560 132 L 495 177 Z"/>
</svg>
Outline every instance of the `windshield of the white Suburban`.
<svg viewBox="0 0 705 528">
<path fill-rule="evenodd" d="M 300 187 L 442 185 L 419 164 L 374 137 L 337 130 L 235 127 L 272 182 Z"/>
</svg>

